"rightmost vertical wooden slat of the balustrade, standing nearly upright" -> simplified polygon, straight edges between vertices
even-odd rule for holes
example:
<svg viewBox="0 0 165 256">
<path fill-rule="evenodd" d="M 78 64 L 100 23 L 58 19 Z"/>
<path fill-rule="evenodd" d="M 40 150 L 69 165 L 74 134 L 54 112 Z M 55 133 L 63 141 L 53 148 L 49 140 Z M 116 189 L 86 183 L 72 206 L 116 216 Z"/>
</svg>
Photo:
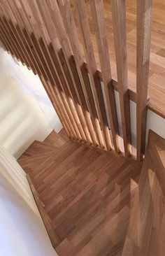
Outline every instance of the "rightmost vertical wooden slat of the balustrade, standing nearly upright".
<svg viewBox="0 0 165 256">
<path fill-rule="evenodd" d="M 137 1 L 137 49 L 136 49 L 136 94 L 137 94 L 137 159 L 145 152 L 145 129 L 148 105 L 148 73 L 150 64 L 150 38 L 152 0 Z"/>
</svg>

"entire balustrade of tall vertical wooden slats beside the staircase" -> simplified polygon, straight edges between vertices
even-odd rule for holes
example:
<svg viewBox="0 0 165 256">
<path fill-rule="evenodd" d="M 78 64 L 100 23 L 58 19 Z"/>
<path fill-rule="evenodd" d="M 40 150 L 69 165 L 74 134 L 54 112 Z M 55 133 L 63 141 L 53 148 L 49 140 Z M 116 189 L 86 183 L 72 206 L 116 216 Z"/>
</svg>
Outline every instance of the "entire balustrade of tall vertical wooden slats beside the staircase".
<svg viewBox="0 0 165 256">
<path fill-rule="evenodd" d="M 152 1 L 137 2 L 137 99 L 134 97 L 134 100 L 137 101 L 137 156 L 141 160 L 145 150 Z M 117 83 L 110 71 L 103 0 L 89 3 L 101 73 L 96 68 L 85 0 L 73 3 L 69 0 L 0 0 L 0 38 L 13 57 L 41 78 L 71 139 L 120 153 L 121 134 L 114 93 L 117 86 L 124 155 L 129 157 L 131 125 L 125 1 L 110 3 Z"/>
</svg>

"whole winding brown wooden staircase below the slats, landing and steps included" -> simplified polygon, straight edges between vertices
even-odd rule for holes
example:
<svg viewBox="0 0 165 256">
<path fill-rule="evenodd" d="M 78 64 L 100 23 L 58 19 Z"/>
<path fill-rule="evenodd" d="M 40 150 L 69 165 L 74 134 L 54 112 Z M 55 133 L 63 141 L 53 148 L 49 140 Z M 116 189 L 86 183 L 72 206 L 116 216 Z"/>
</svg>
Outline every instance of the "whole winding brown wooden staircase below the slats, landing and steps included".
<svg viewBox="0 0 165 256">
<path fill-rule="evenodd" d="M 59 256 L 165 255 L 164 153 L 152 131 L 143 166 L 64 130 L 35 141 L 18 162 Z"/>
</svg>

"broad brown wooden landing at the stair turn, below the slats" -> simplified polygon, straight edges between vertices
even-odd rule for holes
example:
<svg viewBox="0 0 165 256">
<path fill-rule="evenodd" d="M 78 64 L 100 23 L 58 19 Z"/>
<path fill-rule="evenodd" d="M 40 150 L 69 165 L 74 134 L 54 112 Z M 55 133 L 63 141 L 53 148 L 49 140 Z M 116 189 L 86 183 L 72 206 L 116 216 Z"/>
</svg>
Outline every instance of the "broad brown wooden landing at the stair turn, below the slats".
<svg viewBox="0 0 165 256">
<path fill-rule="evenodd" d="M 122 255 L 141 164 L 76 141 L 64 143 L 64 133 L 56 145 L 57 136 L 43 142 L 45 152 L 34 142 L 18 162 L 59 238 L 58 255 Z"/>
</svg>

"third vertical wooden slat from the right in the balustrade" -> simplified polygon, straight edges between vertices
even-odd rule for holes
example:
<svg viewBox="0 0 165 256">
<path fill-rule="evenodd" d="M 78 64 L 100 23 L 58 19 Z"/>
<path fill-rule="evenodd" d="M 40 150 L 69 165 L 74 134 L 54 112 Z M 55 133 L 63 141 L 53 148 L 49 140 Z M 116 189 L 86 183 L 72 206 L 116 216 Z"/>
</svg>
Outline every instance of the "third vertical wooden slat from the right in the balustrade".
<svg viewBox="0 0 165 256">
<path fill-rule="evenodd" d="M 115 93 L 113 90 L 110 59 L 108 52 L 108 41 L 106 35 L 106 24 L 103 15 L 103 0 L 91 0 L 92 17 L 96 33 L 96 43 L 99 52 L 99 61 L 103 78 L 103 85 L 106 94 L 106 104 L 108 108 L 108 117 L 110 128 L 113 135 L 113 144 L 116 152 L 120 152 L 119 129 L 117 122 L 117 111 L 115 105 Z"/>
</svg>

